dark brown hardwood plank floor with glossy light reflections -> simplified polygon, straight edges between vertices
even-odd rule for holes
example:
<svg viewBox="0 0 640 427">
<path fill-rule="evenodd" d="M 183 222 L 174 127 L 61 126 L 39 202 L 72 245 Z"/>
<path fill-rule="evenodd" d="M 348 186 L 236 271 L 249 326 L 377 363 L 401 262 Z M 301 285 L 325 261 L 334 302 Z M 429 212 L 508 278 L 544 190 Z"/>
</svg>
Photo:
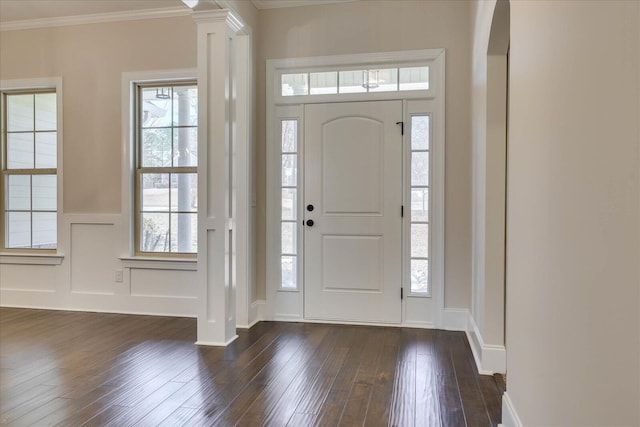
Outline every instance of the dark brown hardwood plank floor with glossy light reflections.
<svg viewBox="0 0 640 427">
<path fill-rule="evenodd" d="M 198 347 L 195 319 L 0 309 L 6 426 L 492 426 L 503 384 L 466 337 L 262 322 Z"/>
</svg>

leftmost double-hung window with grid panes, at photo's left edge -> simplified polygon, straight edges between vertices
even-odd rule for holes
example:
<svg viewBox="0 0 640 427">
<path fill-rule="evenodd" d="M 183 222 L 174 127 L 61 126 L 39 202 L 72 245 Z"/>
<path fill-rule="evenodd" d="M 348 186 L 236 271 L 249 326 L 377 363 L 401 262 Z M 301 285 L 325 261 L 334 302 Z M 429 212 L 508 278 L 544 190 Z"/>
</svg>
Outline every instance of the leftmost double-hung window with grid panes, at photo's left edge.
<svg viewBox="0 0 640 427">
<path fill-rule="evenodd" d="M 7 250 L 57 247 L 54 89 L 2 93 L 2 239 Z"/>
</svg>

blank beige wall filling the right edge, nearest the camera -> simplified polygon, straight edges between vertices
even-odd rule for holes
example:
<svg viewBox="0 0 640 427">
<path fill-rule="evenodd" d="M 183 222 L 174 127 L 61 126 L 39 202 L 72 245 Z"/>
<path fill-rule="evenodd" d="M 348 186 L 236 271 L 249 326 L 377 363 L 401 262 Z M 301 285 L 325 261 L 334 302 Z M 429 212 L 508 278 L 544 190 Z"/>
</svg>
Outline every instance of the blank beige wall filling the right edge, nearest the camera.
<svg viewBox="0 0 640 427">
<path fill-rule="evenodd" d="M 511 2 L 507 394 L 640 425 L 640 3 Z"/>
</svg>

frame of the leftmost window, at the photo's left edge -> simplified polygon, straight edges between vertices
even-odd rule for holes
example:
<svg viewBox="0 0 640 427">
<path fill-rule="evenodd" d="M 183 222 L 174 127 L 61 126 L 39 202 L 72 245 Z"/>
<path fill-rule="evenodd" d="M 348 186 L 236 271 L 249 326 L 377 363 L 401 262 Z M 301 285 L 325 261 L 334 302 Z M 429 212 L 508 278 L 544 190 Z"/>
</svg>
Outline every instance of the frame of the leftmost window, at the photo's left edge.
<svg viewBox="0 0 640 427">
<path fill-rule="evenodd" d="M 37 94 L 37 93 L 55 93 L 56 94 L 56 167 L 55 168 L 34 168 L 16 169 L 17 174 L 33 175 L 55 175 L 56 176 L 56 242 L 55 248 L 9 248 L 6 245 L 6 185 L 7 176 L 16 175 L 16 173 L 7 172 L 7 109 L 6 95 L 8 94 Z M 56 258 L 54 264 L 61 262 L 62 246 L 64 242 L 62 237 L 62 217 L 63 217 L 63 92 L 62 78 L 36 78 L 36 79 L 19 79 L 19 80 L 0 80 L 0 264 L 15 263 L 21 264 L 42 264 L 46 258 Z M 35 132 L 35 129 L 34 129 Z M 29 172 L 31 171 L 31 172 Z M 35 171 L 35 173 L 34 173 Z M 33 212 L 31 207 L 30 212 Z M 53 211 L 46 211 L 53 212 Z M 32 236 L 33 238 L 33 236 Z M 20 259 L 15 257 L 23 256 Z"/>
</svg>

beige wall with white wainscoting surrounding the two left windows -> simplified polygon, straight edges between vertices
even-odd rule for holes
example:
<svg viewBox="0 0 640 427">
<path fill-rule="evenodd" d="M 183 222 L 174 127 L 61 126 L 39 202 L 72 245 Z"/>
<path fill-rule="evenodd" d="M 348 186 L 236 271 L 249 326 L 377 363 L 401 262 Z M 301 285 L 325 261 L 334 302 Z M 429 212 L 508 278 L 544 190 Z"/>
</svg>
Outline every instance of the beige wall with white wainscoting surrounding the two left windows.
<svg viewBox="0 0 640 427">
<path fill-rule="evenodd" d="M 119 258 L 130 254 L 121 229 L 122 73 L 195 66 L 189 16 L 0 32 L 0 80 L 61 77 L 64 112 L 64 258 L 0 257 L 1 305 L 195 316 L 194 264 Z"/>
</svg>

